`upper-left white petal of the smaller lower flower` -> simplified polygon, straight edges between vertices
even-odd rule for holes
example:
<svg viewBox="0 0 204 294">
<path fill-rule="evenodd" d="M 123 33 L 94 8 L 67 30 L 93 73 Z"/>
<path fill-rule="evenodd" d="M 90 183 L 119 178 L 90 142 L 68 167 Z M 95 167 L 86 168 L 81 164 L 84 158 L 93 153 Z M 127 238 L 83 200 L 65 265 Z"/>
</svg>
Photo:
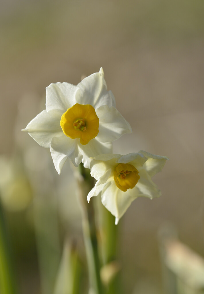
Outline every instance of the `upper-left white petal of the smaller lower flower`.
<svg viewBox="0 0 204 294">
<path fill-rule="evenodd" d="M 116 159 L 120 154 L 101 154 L 95 158 L 90 158 L 91 176 L 96 180 L 102 179 L 109 170 L 114 171 Z M 111 174 L 111 173 L 110 173 Z"/>
</svg>

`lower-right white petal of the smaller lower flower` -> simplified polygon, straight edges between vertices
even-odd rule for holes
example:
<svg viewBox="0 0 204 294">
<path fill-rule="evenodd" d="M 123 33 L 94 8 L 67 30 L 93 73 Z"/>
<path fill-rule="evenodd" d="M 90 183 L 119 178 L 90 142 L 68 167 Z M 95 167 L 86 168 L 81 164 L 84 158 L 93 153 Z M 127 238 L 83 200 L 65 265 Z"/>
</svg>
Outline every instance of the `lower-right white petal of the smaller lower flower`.
<svg viewBox="0 0 204 294">
<path fill-rule="evenodd" d="M 149 174 L 143 168 L 138 169 L 140 179 L 136 184 L 138 189 L 138 196 L 145 196 L 148 198 L 155 198 L 161 196 L 161 191 L 158 186 L 152 181 Z"/>
</svg>

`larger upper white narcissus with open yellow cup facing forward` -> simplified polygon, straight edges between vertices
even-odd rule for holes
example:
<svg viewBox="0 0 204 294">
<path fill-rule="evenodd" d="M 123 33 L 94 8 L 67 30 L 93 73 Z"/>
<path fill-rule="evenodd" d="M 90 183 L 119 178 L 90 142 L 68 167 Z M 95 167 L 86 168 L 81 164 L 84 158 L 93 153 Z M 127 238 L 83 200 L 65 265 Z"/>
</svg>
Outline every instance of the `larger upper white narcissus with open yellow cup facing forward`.
<svg viewBox="0 0 204 294">
<path fill-rule="evenodd" d="M 23 131 L 43 147 L 49 147 L 60 174 L 69 158 L 89 168 L 89 157 L 112 151 L 112 141 L 131 126 L 115 108 L 115 98 L 107 91 L 103 69 L 84 78 L 77 86 L 51 83 L 46 88 L 46 110 Z"/>
</svg>

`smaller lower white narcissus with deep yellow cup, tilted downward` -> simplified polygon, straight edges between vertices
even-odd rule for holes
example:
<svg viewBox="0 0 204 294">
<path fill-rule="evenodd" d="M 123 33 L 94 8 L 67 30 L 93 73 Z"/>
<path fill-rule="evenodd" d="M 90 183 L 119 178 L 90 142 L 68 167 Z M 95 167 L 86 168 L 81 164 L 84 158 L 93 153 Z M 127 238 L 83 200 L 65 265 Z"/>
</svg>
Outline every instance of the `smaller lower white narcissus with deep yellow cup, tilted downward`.
<svg viewBox="0 0 204 294">
<path fill-rule="evenodd" d="M 91 197 L 101 195 L 103 205 L 116 217 L 117 224 L 137 197 L 152 199 L 161 196 L 161 191 L 151 178 L 162 170 L 166 160 L 166 156 L 146 151 L 124 156 L 101 154 L 91 158 L 91 176 L 97 182 L 88 193 L 88 202 Z"/>
</svg>

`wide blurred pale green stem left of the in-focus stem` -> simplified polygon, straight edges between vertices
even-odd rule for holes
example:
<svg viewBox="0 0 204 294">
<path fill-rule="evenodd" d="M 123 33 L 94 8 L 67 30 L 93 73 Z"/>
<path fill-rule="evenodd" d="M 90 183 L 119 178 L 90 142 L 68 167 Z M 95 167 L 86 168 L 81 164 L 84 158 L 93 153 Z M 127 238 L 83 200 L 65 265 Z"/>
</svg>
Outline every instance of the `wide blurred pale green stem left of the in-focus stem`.
<svg viewBox="0 0 204 294">
<path fill-rule="evenodd" d="M 54 195 L 38 194 L 34 198 L 34 223 L 39 257 L 42 294 L 53 293 L 60 244 L 57 220 L 57 203 Z"/>
</svg>

